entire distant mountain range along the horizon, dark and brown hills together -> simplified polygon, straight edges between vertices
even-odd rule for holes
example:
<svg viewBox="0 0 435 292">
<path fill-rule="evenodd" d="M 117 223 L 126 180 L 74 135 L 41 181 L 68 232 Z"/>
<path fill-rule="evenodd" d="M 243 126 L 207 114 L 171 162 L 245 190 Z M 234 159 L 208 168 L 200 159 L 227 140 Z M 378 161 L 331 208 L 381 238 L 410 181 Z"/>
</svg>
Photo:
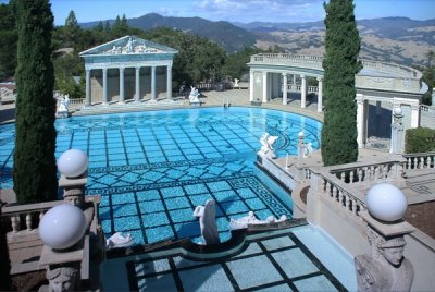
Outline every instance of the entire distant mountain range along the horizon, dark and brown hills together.
<svg viewBox="0 0 435 292">
<path fill-rule="evenodd" d="M 114 20 L 109 20 L 113 23 Z M 98 22 L 83 23 L 92 27 Z M 278 46 L 286 52 L 323 56 L 325 26 L 323 21 L 306 23 L 228 23 L 201 17 L 173 17 L 156 13 L 127 20 L 141 29 L 165 26 L 207 37 L 227 52 L 245 47 L 268 49 Z M 407 17 L 384 17 L 357 21 L 361 36 L 360 57 L 407 65 L 424 64 L 426 53 L 435 46 L 435 19 L 415 21 Z"/>
</svg>

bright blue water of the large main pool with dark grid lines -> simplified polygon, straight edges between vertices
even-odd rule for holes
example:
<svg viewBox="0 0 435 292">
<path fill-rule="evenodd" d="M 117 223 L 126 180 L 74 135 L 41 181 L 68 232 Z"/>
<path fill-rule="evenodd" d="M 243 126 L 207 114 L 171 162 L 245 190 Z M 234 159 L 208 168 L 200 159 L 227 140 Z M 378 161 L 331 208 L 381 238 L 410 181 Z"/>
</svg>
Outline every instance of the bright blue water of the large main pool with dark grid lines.
<svg viewBox="0 0 435 292">
<path fill-rule="evenodd" d="M 231 218 L 291 217 L 284 203 L 253 174 L 260 137 L 279 136 L 278 156 L 295 155 L 297 134 L 319 148 L 322 124 L 256 108 L 202 108 L 74 117 L 58 120 L 55 157 L 71 148 L 89 157 L 87 194 L 101 194 L 107 236 L 129 232 L 136 244 L 200 236 L 196 206 L 216 200 L 222 241 Z M 0 126 L 1 188 L 12 187 L 14 124 Z"/>
</svg>

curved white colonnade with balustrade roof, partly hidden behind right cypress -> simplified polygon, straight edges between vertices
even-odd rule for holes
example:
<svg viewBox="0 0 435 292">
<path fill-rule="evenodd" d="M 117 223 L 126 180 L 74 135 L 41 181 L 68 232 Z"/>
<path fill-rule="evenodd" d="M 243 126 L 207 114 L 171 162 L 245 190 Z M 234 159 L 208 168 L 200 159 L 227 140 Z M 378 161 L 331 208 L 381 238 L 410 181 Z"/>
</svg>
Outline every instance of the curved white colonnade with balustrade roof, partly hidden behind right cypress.
<svg viewBox="0 0 435 292">
<path fill-rule="evenodd" d="M 260 53 L 251 56 L 250 101 L 268 102 L 283 98 L 287 105 L 290 92 L 300 92 L 300 107 L 306 108 L 308 94 L 316 95 L 316 110 L 323 111 L 323 58 L 295 56 L 289 53 Z M 420 83 L 422 73 L 403 65 L 362 60 L 363 69 L 356 75 L 358 144 L 363 147 L 368 141 L 369 102 L 375 102 L 380 112 L 381 104 L 390 109 L 400 107 L 403 126 L 418 127 L 420 105 L 427 86 Z M 318 86 L 308 86 L 308 78 L 315 78 Z"/>
</svg>

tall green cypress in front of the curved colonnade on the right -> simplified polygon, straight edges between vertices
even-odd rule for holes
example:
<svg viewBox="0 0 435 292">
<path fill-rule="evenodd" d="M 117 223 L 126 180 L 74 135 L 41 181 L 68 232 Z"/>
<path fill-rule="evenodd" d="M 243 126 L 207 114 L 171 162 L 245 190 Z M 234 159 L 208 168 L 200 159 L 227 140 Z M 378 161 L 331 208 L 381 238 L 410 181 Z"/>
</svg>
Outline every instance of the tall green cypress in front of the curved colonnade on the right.
<svg viewBox="0 0 435 292">
<path fill-rule="evenodd" d="M 324 8 L 326 56 L 323 60 L 322 158 L 325 166 L 334 166 L 355 162 L 358 158 L 355 75 L 362 69 L 358 61 L 361 39 L 352 0 L 331 0 Z"/>
</svg>

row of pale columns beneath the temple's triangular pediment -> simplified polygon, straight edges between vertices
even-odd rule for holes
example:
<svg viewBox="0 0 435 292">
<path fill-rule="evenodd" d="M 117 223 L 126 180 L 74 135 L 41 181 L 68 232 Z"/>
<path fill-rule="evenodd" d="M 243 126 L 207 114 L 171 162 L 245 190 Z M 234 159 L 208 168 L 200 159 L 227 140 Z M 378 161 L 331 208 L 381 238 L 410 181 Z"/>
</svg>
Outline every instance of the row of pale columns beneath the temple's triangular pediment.
<svg viewBox="0 0 435 292">
<path fill-rule="evenodd" d="M 172 99 L 172 64 L 166 66 L 166 98 Z M 129 66 L 119 66 L 120 71 L 120 99 L 119 105 L 125 104 L 125 69 Z M 135 102 L 140 102 L 140 69 L 147 66 L 135 66 Z M 149 66 L 151 69 L 151 101 L 157 101 L 157 78 L 156 78 L 156 69 L 157 65 Z M 104 66 L 104 68 L 86 68 L 86 99 L 85 107 L 91 105 L 91 71 L 92 70 L 101 70 L 102 72 L 102 105 L 109 106 L 109 93 L 108 93 L 108 70 L 116 69 L 113 66 Z"/>
</svg>

